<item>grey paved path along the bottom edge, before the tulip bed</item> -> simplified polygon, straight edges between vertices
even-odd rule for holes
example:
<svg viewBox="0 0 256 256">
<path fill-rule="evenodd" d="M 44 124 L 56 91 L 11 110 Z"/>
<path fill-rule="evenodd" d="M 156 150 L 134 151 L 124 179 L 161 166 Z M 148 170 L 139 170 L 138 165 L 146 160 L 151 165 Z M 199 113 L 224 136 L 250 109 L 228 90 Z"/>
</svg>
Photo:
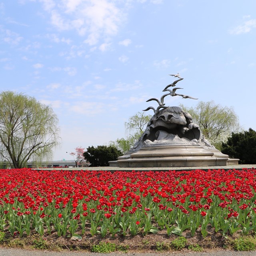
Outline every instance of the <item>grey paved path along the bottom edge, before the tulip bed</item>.
<svg viewBox="0 0 256 256">
<path fill-rule="evenodd" d="M 256 256 L 254 252 L 236 252 L 236 251 L 212 251 L 212 252 L 163 252 L 163 253 L 123 253 L 123 252 L 112 252 L 112 253 L 93 253 L 93 252 L 49 252 L 39 250 L 22 250 L 22 249 L 8 249 L 0 248 L 0 256 Z"/>
</svg>

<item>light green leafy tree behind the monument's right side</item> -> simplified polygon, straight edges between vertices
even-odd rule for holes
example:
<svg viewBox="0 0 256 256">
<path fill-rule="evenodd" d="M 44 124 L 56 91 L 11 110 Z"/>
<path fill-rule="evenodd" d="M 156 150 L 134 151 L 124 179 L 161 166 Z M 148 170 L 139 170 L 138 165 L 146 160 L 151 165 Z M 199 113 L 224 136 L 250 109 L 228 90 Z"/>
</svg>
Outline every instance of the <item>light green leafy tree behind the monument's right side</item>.
<svg viewBox="0 0 256 256">
<path fill-rule="evenodd" d="M 195 108 L 182 104 L 180 108 L 191 114 L 193 122 L 199 125 L 206 139 L 214 146 L 220 146 L 220 139 L 225 140 L 239 129 L 238 116 L 232 107 L 216 105 L 214 101 L 200 101 Z"/>
</svg>

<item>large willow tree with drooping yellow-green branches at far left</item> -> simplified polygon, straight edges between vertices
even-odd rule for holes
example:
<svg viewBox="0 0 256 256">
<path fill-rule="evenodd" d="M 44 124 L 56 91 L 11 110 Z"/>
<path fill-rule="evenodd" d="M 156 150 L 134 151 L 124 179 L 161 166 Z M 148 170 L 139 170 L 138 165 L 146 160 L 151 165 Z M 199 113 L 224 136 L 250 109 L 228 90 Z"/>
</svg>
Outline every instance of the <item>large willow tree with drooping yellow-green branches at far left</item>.
<svg viewBox="0 0 256 256">
<path fill-rule="evenodd" d="M 10 166 L 23 168 L 28 160 L 49 159 L 58 145 L 58 134 L 52 108 L 24 94 L 0 94 L 0 157 Z"/>
</svg>

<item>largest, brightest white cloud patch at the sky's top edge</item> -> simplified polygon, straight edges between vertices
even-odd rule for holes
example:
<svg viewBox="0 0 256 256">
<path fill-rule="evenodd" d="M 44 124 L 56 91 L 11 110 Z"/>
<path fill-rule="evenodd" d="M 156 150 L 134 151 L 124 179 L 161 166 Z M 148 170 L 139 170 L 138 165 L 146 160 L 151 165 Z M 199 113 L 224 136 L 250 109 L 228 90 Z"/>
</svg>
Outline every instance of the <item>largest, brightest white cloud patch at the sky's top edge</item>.
<svg viewBox="0 0 256 256">
<path fill-rule="evenodd" d="M 100 38 L 118 32 L 125 13 L 118 2 L 109 0 L 40 0 L 58 30 L 76 30 L 86 36 L 85 43 L 95 45 Z M 59 3 L 61 2 L 61 3 Z"/>
</svg>

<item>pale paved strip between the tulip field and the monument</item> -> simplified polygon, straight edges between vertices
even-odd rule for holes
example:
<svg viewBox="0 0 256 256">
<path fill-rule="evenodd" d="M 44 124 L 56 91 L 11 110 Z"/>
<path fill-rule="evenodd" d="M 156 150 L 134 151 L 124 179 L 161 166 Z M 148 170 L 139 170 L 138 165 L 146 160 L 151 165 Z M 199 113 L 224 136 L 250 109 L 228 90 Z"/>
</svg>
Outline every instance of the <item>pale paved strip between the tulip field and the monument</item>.
<svg viewBox="0 0 256 256">
<path fill-rule="evenodd" d="M 196 167 L 137 167 L 137 168 L 122 168 L 122 167 L 83 167 L 83 168 L 34 168 L 34 170 L 89 170 L 89 171 L 168 171 L 168 170 L 209 170 L 209 169 L 236 169 L 241 170 L 243 168 L 256 168 L 256 164 L 234 164 L 228 166 L 196 166 Z"/>
</svg>

